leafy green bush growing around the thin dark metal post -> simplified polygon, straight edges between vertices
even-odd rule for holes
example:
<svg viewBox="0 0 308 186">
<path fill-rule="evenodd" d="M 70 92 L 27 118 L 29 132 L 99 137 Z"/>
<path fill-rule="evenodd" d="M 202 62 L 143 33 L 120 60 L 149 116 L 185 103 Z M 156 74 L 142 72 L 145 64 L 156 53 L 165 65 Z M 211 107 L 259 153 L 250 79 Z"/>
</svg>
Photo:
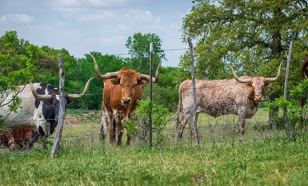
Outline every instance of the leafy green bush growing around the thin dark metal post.
<svg viewBox="0 0 308 186">
<path fill-rule="evenodd" d="M 152 136 L 156 136 L 153 143 L 156 145 L 163 144 L 164 136 L 162 132 L 168 123 L 166 119 L 169 115 L 168 110 L 162 105 L 151 102 L 149 98 L 138 101 L 138 106 L 131 115 L 131 119 L 122 121 L 126 127 L 125 133 L 128 136 L 138 136 L 140 140 L 147 143 L 149 132 L 148 117 L 150 113 L 152 113 L 152 127 L 154 128 L 152 130 Z"/>
</svg>

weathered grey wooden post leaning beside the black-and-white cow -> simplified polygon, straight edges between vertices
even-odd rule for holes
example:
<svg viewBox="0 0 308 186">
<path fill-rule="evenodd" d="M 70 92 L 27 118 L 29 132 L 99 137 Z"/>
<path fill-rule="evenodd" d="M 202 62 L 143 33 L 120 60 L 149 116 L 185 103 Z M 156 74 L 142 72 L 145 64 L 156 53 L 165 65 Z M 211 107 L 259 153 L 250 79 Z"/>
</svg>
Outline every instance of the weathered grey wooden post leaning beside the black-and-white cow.
<svg viewBox="0 0 308 186">
<path fill-rule="evenodd" d="M 64 116 L 65 116 L 64 113 L 65 113 L 66 99 L 64 97 L 64 58 L 63 58 L 63 54 L 59 54 L 59 89 L 60 89 L 59 90 L 59 97 L 60 97 L 59 118 L 58 118 L 55 138 L 53 140 L 52 150 L 50 153 L 51 158 L 59 150 L 60 141 L 62 138 Z"/>
</svg>

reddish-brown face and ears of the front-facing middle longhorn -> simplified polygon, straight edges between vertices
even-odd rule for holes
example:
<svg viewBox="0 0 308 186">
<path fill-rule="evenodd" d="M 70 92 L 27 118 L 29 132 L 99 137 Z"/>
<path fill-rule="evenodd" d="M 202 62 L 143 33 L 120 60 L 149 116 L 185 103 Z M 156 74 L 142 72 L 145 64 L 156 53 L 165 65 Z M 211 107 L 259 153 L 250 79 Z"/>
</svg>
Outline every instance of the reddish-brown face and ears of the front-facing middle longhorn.
<svg viewBox="0 0 308 186">
<path fill-rule="evenodd" d="M 145 86 L 147 82 L 141 79 L 138 72 L 119 73 L 117 79 L 110 79 L 111 84 L 122 87 L 121 105 L 128 106 L 136 99 L 138 86 Z"/>
</svg>

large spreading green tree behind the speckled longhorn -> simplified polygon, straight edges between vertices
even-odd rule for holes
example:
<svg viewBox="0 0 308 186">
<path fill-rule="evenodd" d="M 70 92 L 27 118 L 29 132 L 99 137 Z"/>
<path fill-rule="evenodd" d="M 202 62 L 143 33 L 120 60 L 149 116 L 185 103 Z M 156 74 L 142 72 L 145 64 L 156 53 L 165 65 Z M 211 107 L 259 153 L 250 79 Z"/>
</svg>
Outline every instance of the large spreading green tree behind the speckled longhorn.
<svg viewBox="0 0 308 186">
<path fill-rule="evenodd" d="M 228 65 L 239 75 L 275 77 L 294 39 L 289 81 L 300 80 L 300 66 L 308 53 L 308 5 L 305 1 L 193 1 L 183 18 L 183 41 L 196 42 L 196 76 L 199 79 L 232 78 Z M 188 67 L 187 53 L 180 66 Z M 284 74 L 282 74 L 282 77 Z M 283 92 L 283 81 L 266 89 L 271 100 Z"/>
</svg>

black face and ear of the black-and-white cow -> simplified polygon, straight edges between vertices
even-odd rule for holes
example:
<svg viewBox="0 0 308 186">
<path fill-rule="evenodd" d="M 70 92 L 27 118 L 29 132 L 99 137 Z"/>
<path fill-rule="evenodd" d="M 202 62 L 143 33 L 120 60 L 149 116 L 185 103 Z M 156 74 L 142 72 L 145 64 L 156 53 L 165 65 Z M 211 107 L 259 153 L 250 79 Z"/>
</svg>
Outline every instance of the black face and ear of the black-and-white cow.
<svg viewBox="0 0 308 186">
<path fill-rule="evenodd" d="M 59 111 L 60 111 L 60 97 L 59 95 L 52 94 L 52 98 L 46 99 L 45 104 L 47 105 L 48 108 L 48 117 L 47 119 L 50 119 L 50 134 L 53 134 L 55 127 L 57 126 L 57 119 L 59 118 Z M 67 94 L 65 94 L 65 99 L 67 104 L 72 105 L 74 104 L 73 99 L 69 99 L 67 97 Z M 66 110 L 66 106 L 65 106 Z"/>
</svg>

